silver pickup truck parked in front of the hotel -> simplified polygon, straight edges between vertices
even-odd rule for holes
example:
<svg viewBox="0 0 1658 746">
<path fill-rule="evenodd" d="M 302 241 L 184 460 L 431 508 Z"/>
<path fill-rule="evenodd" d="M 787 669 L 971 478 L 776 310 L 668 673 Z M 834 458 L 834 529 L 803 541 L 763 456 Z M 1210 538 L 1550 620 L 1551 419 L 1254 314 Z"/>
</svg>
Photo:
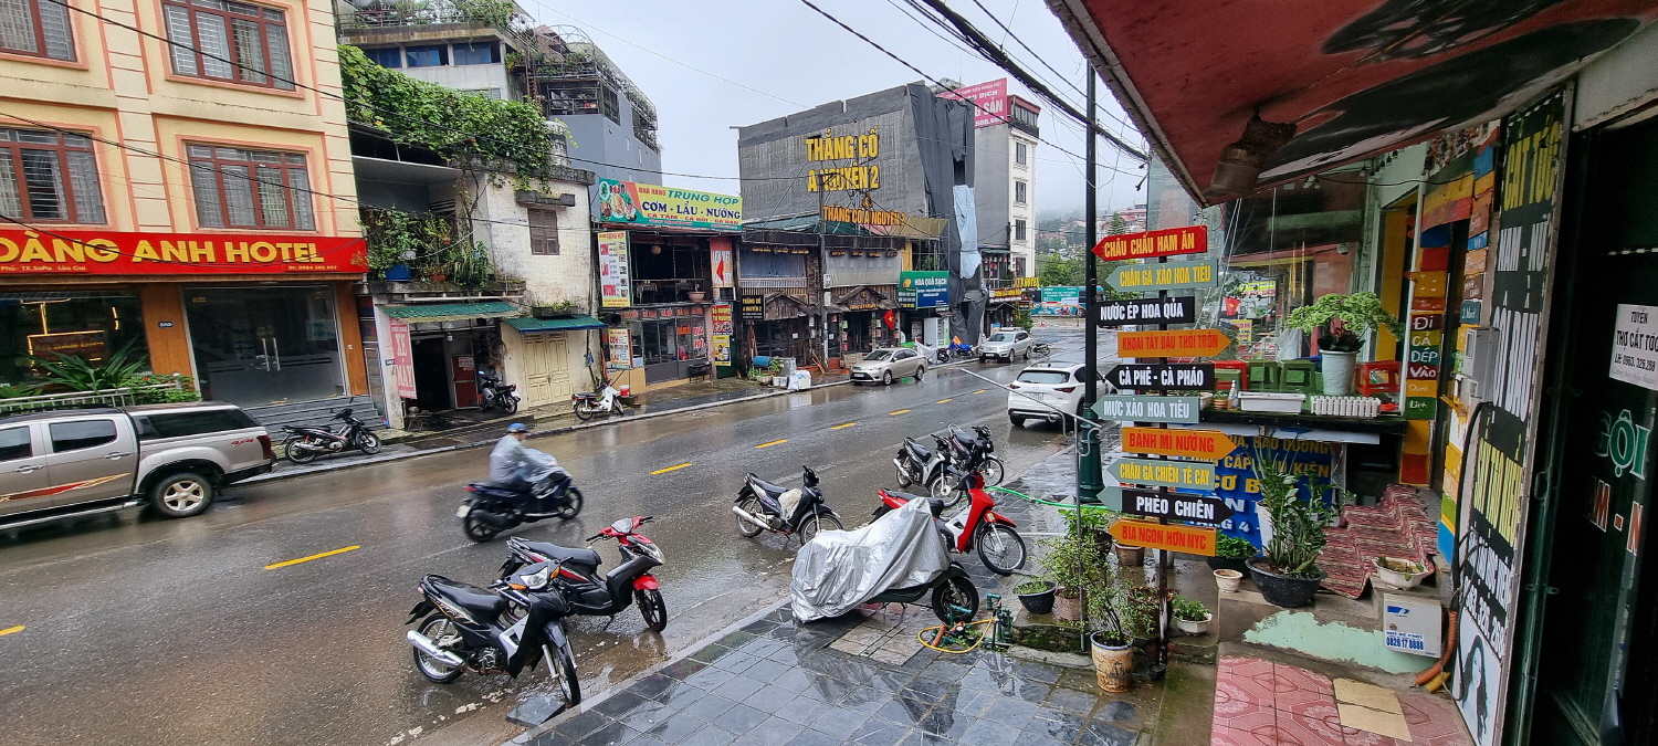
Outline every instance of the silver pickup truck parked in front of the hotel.
<svg viewBox="0 0 1658 746">
<path fill-rule="evenodd" d="M 235 404 L 201 401 L 0 416 L 0 529 L 148 501 L 167 517 L 270 471 L 270 436 Z"/>
</svg>

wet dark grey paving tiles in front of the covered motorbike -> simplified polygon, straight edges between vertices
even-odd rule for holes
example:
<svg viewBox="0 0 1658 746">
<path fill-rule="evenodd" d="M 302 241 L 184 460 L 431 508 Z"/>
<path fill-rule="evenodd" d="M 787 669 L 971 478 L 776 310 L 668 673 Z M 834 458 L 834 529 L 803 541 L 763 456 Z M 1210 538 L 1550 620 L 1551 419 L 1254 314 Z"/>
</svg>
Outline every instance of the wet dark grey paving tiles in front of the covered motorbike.
<svg viewBox="0 0 1658 746">
<path fill-rule="evenodd" d="M 1094 688 L 1091 670 L 988 652 L 922 650 L 894 665 L 831 650 L 856 613 L 796 625 L 788 608 L 773 612 L 531 744 L 1132 746 L 1139 738 L 1149 708 Z"/>
</svg>

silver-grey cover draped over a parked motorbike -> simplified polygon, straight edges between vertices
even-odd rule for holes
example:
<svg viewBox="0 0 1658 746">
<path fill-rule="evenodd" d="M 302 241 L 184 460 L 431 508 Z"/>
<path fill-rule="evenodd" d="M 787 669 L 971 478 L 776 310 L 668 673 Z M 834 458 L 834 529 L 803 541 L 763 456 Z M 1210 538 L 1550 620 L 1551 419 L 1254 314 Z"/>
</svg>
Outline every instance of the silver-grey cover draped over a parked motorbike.
<svg viewBox="0 0 1658 746">
<path fill-rule="evenodd" d="M 794 618 L 839 617 L 875 595 L 932 582 L 950 567 L 950 549 L 927 501 L 910 501 L 854 530 L 824 530 L 794 555 Z"/>
</svg>

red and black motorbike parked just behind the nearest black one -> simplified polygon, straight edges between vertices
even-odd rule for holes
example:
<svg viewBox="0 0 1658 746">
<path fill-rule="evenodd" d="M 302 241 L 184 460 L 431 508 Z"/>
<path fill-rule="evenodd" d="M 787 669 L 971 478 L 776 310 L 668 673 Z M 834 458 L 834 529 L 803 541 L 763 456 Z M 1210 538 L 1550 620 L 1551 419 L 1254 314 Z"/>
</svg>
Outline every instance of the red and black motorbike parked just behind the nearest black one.
<svg viewBox="0 0 1658 746">
<path fill-rule="evenodd" d="M 620 519 L 587 537 L 587 549 L 532 542 L 516 535 L 507 539 L 507 549 L 512 554 L 501 565 L 501 577 L 512 575 L 537 562 L 557 562 L 559 572 L 552 575 L 552 582 L 564 589 L 570 613 L 615 617 L 637 602 L 638 613 L 645 617 L 645 627 L 650 627 L 650 632 L 662 632 L 668 627 L 668 605 L 662 600 L 660 585 L 650 569 L 660 567 L 667 559 L 663 559 L 657 542 L 638 532 L 638 527 L 650 521 L 653 521 L 652 516 Z M 599 539 L 617 540 L 622 564 L 615 570 L 599 572 L 604 560 L 590 545 Z"/>
</svg>

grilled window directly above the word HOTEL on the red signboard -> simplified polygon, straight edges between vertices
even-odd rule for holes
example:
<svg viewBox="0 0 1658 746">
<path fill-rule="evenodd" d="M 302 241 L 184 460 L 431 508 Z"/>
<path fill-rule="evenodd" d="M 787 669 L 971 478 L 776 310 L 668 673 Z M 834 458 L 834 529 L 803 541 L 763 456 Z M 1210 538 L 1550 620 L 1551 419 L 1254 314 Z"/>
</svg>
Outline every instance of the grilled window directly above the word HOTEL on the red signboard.
<svg viewBox="0 0 1658 746">
<path fill-rule="evenodd" d="M 207 144 L 187 151 L 202 227 L 317 230 L 305 156 Z"/>
</svg>

